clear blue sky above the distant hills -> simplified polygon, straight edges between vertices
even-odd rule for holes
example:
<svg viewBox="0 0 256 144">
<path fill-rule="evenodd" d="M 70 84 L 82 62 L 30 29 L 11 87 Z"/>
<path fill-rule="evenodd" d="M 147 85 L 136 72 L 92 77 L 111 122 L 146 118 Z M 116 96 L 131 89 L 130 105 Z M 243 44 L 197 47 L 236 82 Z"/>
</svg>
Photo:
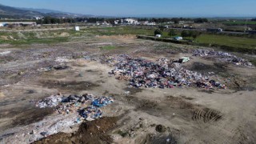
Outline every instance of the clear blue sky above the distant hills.
<svg viewBox="0 0 256 144">
<path fill-rule="evenodd" d="M 0 4 L 104 16 L 256 16 L 256 0 L 1 0 Z"/>
</svg>

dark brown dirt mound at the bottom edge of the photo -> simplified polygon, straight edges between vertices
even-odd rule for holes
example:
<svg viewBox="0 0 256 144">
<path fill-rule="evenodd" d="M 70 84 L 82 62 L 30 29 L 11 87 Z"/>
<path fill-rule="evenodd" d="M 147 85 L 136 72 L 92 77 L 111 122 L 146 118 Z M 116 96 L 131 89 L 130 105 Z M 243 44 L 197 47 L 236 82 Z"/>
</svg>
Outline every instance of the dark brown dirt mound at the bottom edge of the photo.
<svg viewBox="0 0 256 144">
<path fill-rule="evenodd" d="M 117 120 L 118 118 L 101 118 L 84 122 L 74 134 L 58 133 L 34 143 L 111 143 L 112 138 L 106 132 L 116 125 Z"/>
</svg>

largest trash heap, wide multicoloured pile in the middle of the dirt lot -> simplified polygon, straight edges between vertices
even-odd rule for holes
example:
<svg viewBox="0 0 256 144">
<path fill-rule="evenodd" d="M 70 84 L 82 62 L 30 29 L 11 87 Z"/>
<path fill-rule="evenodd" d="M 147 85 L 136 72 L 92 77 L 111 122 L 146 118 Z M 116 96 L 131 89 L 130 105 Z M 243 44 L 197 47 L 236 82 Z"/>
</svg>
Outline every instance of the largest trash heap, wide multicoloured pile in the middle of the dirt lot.
<svg viewBox="0 0 256 144">
<path fill-rule="evenodd" d="M 226 86 L 210 79 L 198 72 L 186 70 L 180 63 L 170 62 L 161 58 L 157 62 L 150 62 L 143 58 L 131 58 L 128 55 L 118 55 L 115 60 L 115 69 L 110 74 L 119 80 L 129 80 L 134 87 L 186 87 L 198 86 L 212 89 Z"/>
</svg>

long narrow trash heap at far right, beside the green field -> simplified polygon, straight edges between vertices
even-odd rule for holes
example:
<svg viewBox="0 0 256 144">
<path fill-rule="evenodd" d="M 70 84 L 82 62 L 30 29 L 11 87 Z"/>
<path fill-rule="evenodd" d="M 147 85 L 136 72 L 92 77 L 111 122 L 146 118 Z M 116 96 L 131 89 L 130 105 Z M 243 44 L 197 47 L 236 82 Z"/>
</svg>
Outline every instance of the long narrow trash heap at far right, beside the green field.
<svg viewBox="0 0 256 144">
<path fill-rule="evenodd" d="M 218 58 L 218 60 L 221 62 L 229 62 L 238 66 L 249 66 L 249 67 L 253 66 L 250 62 L 248 62 L 243 58 L 239 58 L 233 54 L 229 54 L 222 51 L 198 49 L 198 50 L 194 50 L 193 56 Z"/>
</svg>

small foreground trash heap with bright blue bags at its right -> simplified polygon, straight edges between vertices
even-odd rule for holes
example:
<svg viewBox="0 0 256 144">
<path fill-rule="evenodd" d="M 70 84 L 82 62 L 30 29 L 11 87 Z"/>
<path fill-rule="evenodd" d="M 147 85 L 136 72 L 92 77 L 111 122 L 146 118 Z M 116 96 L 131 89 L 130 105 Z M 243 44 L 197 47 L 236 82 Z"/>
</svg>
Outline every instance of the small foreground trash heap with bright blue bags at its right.
<svg viewBox="0 0 256 144">
<path fill-rule="evenodd" d="M 36 103 L 40 108 L 54 107 L 58 114 L 73 114 L 77 112 L 80 117 L 88 120 L 102 117 L 100 107 L 107 106 L 114 102 L 111 97 L 95 98 L 92 94 L 70 95 L 68 97 L 62 94 L 52 95 Z M 77 118 L 80 121 L 81 118 Z"/>
</svg>

